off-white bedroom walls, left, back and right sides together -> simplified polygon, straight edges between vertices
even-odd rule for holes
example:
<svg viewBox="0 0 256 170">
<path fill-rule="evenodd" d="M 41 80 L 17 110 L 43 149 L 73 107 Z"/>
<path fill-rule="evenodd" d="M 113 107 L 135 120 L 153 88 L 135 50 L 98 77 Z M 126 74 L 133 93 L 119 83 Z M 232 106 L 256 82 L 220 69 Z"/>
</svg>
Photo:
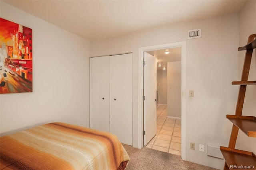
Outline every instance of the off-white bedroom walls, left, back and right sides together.
<svg viewBox="0 0 256 170">
<path fill-rule="evenodd" d="M 132 52 L 133 145 L 138 147 L 138 47 L 186 41 L 186 121 L 182 121 L 186 125 L 186 160 L 223 168 L 224 160 L 200 152 L 198 145 L 228 146 L 231 123 L 225 117 L 234 113 L 236 105 L 238 87 L 231 82 L 239 78 L 237 47 L 255 33 L 255 1 L 247 2 L 241 15 L 233 13 L 92 41 L 90 53 L 87 40 L 0 3 L 2 18 L 32 28 L 34 56 L 33 92 L 0 95 L 1 133 L 50 121 L 88 127 L 88 56 Z M 202 28 L 202 38 L 188 40 L 187 31 L 196 28 Z M 191 89 L 194 98 L 188 97 Z M 247 101 L 254 103 L 246 105 L 246 110 L 253 114 L 255 87 L 251 93 Z M 190 142 L 196 143 L 196 150 L 189 149 Z M 255 144 L 255 139 L 250 143 Z M 255 147 L 245 146 L 240 139 L 238 147 L 255 153 Z"/>
</svg>

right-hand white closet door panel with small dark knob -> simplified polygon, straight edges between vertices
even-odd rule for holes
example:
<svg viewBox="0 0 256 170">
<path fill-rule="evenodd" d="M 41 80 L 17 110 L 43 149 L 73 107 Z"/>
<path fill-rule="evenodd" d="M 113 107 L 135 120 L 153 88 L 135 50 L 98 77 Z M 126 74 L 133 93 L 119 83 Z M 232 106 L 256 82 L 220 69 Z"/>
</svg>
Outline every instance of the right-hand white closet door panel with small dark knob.
<svg viewBox="0 0 256 170">
<path fill-rule="evenodd" d="M 132 145 L 132 54 L 110 56 L 110 133 Z"/>
</svg>

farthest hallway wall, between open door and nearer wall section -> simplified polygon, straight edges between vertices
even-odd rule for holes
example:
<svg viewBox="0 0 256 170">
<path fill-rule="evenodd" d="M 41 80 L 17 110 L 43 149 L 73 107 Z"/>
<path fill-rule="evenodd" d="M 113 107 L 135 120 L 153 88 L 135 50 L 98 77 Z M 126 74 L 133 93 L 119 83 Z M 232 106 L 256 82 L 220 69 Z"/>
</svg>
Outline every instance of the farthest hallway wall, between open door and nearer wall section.
<svg viewBox="0 0 256 170">
<path fill-rule="evenodd" d="M 167 105 L 167 70 L 157 70 L 158 104 Z"/>
</svg>

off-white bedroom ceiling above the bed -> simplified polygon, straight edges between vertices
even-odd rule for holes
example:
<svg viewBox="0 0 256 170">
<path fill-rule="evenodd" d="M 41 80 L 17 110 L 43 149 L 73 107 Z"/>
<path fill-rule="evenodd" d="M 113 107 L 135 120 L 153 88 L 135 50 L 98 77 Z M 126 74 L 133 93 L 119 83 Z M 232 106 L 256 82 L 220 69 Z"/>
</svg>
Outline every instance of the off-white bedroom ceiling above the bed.
<svg viewBox="0 0 256 170">
<path fill-rule="evenodd" d="M 238 12 L 246 0 L 2 0 L 90 41 Z"/>
</svg>

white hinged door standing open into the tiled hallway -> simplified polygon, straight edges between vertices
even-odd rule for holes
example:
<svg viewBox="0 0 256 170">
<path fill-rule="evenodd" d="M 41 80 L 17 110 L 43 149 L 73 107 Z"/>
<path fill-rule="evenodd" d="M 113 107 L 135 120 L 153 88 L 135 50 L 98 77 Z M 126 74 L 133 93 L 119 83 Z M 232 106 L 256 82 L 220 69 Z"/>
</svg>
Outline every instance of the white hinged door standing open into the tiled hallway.
<svg viewBox="0 0 256 170">
<path fill-rule="evenodd" d="M 156 58 L 144 52 L 144 146 L 156 135 Z"/>
</svg>

